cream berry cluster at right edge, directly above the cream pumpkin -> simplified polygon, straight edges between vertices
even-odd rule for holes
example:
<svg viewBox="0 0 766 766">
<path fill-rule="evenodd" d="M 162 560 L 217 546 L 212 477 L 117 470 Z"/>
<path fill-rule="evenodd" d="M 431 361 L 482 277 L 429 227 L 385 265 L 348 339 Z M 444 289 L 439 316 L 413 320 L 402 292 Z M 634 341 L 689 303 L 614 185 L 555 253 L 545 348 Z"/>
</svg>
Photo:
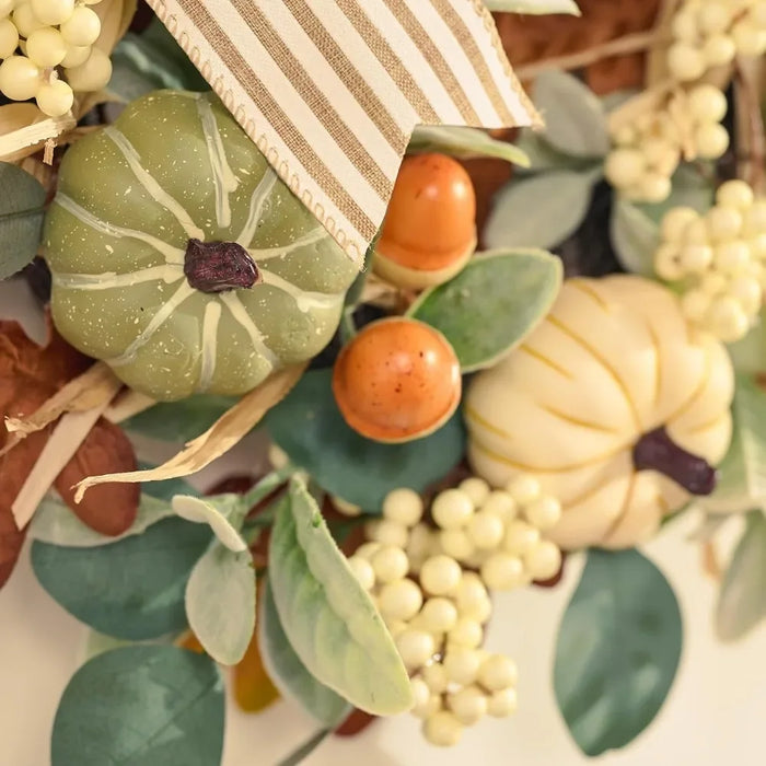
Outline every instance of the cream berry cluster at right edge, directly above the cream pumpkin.
<svg viewBox="0 0 766 766">
<path fill-rule="evenodd" d="M 661 233 L 654 270 L 680 282 L 686 318 L 724 343 L 744 337 L 766 289 L 766 199 L 744 181 L 729 181 L 704 216 L 672 208 Z"/>
</svg>

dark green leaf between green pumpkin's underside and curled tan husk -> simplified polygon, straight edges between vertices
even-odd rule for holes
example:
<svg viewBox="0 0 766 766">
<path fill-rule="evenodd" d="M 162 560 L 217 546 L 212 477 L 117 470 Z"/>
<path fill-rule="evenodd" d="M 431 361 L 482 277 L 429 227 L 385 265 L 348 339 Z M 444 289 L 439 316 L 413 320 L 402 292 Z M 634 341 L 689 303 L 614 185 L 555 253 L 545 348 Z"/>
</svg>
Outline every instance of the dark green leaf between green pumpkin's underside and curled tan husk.
<svg viewBox="0 0 766 766">
<path fill-rule="evenodd" d="M 131 433 L 160 441 L 187 442 L 212 426 L 237 402 L 233 396 L 200 394 L 181 402 L 161 402 L 120 426 Z"/>
</svg>

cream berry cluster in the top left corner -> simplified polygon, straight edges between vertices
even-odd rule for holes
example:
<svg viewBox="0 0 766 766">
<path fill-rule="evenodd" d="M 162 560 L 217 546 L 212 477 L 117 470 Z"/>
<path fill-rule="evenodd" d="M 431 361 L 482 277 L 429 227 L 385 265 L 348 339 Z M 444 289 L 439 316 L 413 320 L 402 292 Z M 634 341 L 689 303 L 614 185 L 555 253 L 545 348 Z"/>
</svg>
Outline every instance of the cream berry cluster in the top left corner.
<svg viewBox="0 0 766 766">
<path fill-rule="evenodd" d="M 101 20 L 89 8 L 98 2 L 0 0 L 3 95 L 12 101 L 34 98 L 42 112 L 60 117 L 71 109 L 76 91 L 104 88 L 112 77 L 112 62 L 93 47 Z"/>
</svg>

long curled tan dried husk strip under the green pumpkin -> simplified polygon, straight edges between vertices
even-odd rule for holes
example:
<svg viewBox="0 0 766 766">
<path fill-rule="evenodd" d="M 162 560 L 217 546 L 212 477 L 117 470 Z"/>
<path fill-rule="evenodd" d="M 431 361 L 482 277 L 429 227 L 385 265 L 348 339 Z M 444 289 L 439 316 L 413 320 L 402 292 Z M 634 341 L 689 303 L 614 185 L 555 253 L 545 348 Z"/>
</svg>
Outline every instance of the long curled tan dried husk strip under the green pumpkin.
<svg viewBox="0 0 766 766">
<path fill-rule="evenodd" d="M 239 441 L 280 402 L 303 374 L 305 364 L 294 364 L 280 370 L 249 394 L 243 396 L 222 415 L 205 433 L 193 439 L 184 450 L 163 465 L 148 471 L 113 473 L 90 476 L 78 484 L 74 501 L 80 502 L 85 491 L 109 481 L 160 481 L 189 476 L 201 471 L 217 457 L 231 450 Z"/>
</svg>

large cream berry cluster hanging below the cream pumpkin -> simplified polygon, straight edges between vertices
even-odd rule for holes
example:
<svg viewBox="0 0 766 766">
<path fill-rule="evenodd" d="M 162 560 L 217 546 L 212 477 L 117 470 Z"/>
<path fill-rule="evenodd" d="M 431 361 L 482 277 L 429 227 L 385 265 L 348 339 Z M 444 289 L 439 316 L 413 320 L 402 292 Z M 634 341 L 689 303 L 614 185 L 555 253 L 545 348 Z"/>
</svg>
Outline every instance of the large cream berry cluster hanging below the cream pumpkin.
<svg viewBox="0 0 766 766">
<path fill-rule="evenodd" d="M 515 663 L 481 649 L 489 591 L 558 572 L 560 550 L 541 533 L 558 522 L 561 507 L 531 477 L 506 490 L 472 477 L 434 498 L 436 527 L 422 521 L 423 510 L 411 489 L 392 491 L 349 562 L 410 674 L 423 735 L 450 746 L 484 716 L 515 711 Z"/>
</svg>

